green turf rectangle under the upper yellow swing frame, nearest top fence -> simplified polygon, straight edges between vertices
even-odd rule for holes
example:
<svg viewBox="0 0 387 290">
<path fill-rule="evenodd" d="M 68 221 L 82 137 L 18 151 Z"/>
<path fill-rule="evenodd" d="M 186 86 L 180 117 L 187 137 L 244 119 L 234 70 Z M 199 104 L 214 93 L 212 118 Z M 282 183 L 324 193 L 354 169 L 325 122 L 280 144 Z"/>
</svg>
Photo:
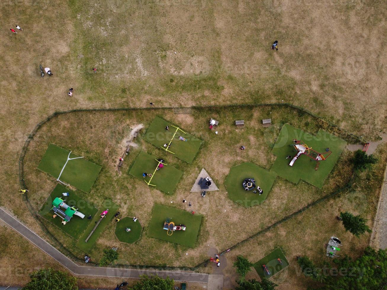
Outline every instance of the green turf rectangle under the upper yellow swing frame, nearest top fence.
<svg viewBox="0 0 387 290">
<path fill-rule="evenodd" d="M 169 131 L 165 130 L 165 126 L 167 125 L 169 126 Z M 176 131 L 176 128 L 173 127 L 173 125 L 174 124 L 157 116 L 153 119 L 151 125 L 149 125 L 149 128 L 144 136 L 144 140 L 152 143 L 156 147 L 165 148 L 163 145 L 166 143 L 169 144 Z M 195 136 L 188 134 L 187 131 L 185 131 L 183 128 L 182 130 L 185 133 L 178 130 L 175 134 L 175 137 L 173 138 L 171 147 L 169 147 L 168 150 L 173 152 L 173 155 L 176 157 L 188 163 L 192 163 L 203 141 L 196 138 Z M 187 142 L 179 140 L 179 136 L 186 138 Z M 171 154 L 170 152 L 166 153 Z"/>
</svg>

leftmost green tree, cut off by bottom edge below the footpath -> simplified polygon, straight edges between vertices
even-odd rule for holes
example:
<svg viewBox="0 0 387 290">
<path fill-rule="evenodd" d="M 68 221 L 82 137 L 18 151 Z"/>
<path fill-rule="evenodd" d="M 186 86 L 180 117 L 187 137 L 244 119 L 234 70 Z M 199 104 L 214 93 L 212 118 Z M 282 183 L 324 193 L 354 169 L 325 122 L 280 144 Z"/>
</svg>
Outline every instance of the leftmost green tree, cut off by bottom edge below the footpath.
<svg viewBox="0 0 387 290">
<path fill-rule="evenodd" d="M 52 268 L 40 269 L 29 275 L 31 281 L 22 289 L 24 290 L 77 290 L 77 278 L 66 272 Z"/>
</svg>

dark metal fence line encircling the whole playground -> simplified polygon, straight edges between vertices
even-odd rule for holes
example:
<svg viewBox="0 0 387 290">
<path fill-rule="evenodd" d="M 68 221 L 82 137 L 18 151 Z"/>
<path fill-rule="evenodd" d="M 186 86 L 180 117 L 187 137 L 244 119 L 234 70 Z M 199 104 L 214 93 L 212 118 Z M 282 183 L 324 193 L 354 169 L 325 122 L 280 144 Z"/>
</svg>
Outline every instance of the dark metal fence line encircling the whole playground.
<svg viewBox="0 0 387 290">
<path fill-rule="evenodd" d="M 34 135 L 36 135 L 36 133 L 38 132 L 38 130 L 45 124 L 47 123 L 48 121 L 50 121 L 52 118 L 58 116 L 58 115 L 62 115 L 62 114 L 68 114 L 68 113 L 76 113 L 76 112 L 94 112 L 94 111 L 107 111 L 107 112 L 113 112 L 113 111 L 136 111 L 136 110 L 155 110 L 155 109 L 173 109 L 174 111 L 187 111 L 187 112 L 192 112 L 192 110 L 200 110 L 200 109 L 225 109 L 225 108 L 238 108 L 238 107 L 264 107 L 264 106 L 279 106 L 279 107 L 290 107 L 290 108 L 293 108 L 293 109 L 296 109 L 296 110 L 299 110 L 299 111 L 302 111 L 314 118 L 317 118 L 317 119 L 321 119 L 323 120 L 328 126 L 332 127 L 332 128 L 337 128 L 337 130 L 344 135 L 344 138 L 343 136 L 341 136 L 341 138 L 349 141 L 349 142 L 362 142 L 361 138 L 358 136 L 358 135 L 354 135 L 354 134 L 347 134 L 345 133 L 344 130 L 340 129 L 337 125 L 333 124 L 333 123 L 330 123 L 329 121 L 326 121 L 325 119 L 321 118 L 320 116 L 317 116 L 316 114 L 313 114 L 312 112 L 302 108 L 302 107 L 299 107 L 299 106 L 295 106 L 293 104 L 288 104 L 288 103 L 268 103 L 268 104 L 230 104 L 230 105 L 210 105 L 210 106 L 192 106 L 192 107 L 150 107 L 150 108 L 143 108 L 143 107 L 127 107 L 127 108 L 112 108 L 112 109 L 109 109 L 109 108 L 97 108 L 97 109 L 74 109 L 74 110 L 68 110 L 68 111 L 60 111 L 60 112 L 54 112 L 53 114 L 51 114 L 50 116 L 48 116 L 46 119 L 44 119 L 43 121 L 41 121 L 40 123 L 38 123 L 34 130 L 31 132 L 31 134 L 29 134 L 26 142 L 24 143 L 24 146 L 22 148 L 22 152 L 21 152 L 21 155 L 19 157 L 19 183 L 20 183 L 20 187 L 21 189 L 27 189 L 27 185 L 26 185 L 26 181 L 24 179 L 24 157 L 27 153 L 27 149 L 28 149 L 28 146 L 29 146 L 29 143 L 31 142 L 31 140 L 33 140 L 34 138 Z M 176 111 L 176 112 L 177 112 Z M 316 201 L 313 201 L 312 203 L 309 203 L 308 205 L 304 206 L 303 208 L 301 208 L 300 210 L 292 213 L 291 215 L 288 215 L 287 217 L 284 217 L 282 218 L 281 220 L 273 223 L 272 225 L 269 225 L 268 227 L 266 227 L 265 229 L 263 230 L 260 230 L 259 232 L 251 235 L 250 237 L 248 237 L 247 239 L 244 239 L 240 242 L 238 242 L 237 244 L 229 247 L 227 250 L 224 250 L 223 252 L 221 252 L 221 254 L 224 254 L 228 251 L 231 251 L 233 249 L 235 249 L 236 247 L 240 246 L 241 244 L 244 244 L 245 242 L 247 241 L 251 241 L 252 239 L 258 237 L 259 235 L 262 235 L 264 234 L 265 232 L 273 229 L 274 227 L 276 227 L 277 225 L 280 225 L 281 223 L 283 222 L 286 222 L 287 220 L 299 215 L 300 213 L 304 212 L 305 210 L 307 210 L 308 208 L 312 207 L 313 205 L 316 205 L 324 200 L 327 200 L 329 198 L 331 198 L 332 196 L 335 196 L 336 194 L 344 191 L 345 189 L 347 188 L 351 188 L 352 186 L 352 180 L 348 183 L 347 186 L 335 191 L 334 193 L 330 193 L 330 194 L 327 194 L 325 196 L 323 196 L 322 198 L 319 198 L 318 200 Z M 77 262 L 84 262 L 84 259 L 82 258 L 79 258 L 77 256 L 75 256 L 69 249 L 67 249 L 65 246 L 63 246 L 63 244 L 58 241 L 58 239 L 50 232 L 50 230 L 48 230 L 48 228 L 46 227 L 45 223 L 41 220 L 41 217 L 38 215 L 37 211 L 34 209 L 33 205 L 31 204 L 31 202 L 29 201 L 29 198 L 28 198 L 28 192 L 22 194 L 22 199 L 25 201 L 26 203 L 26 206 L 29 210 L 29 212 L 31 213 L 31 216 L 36 220 L 36 222 L 38 223 L 38 225 L 41 227 L 41 229 L 43 230 L 43 232 L 47 235 L 47 237 L 49 237 L 49 239 L 51 240 L 52 244 L 54 247 L 56 247 L 60 252 L 62 252 L 63 254 L 65 254 L 67 257 L 71 258 L 72 260 L 74 261 L 77 261 Z M 120 267 L 120 268 L 140 268 L 140 269 L 157 269 L 157 270 L 191 270 L 191 271 L 195 271 L 197 270 L 198 268 L 202 267 L 202 266 L 205 266 L 207 264 L 207 260 L 203 261 L 202 263 L 199 263 L 197 264 L 196 266 L 194 267 L 170 267 L 170 266 L 151 266 L 151 265 L 132 265 L 132 264 L 115 264 L 114 266 L 116 267 Z M 89 262 L 89 264 L 92 264 L 94 266 L 98 266 L 97 263 L 94 263 L 94 262 Z"/>
</svg>

